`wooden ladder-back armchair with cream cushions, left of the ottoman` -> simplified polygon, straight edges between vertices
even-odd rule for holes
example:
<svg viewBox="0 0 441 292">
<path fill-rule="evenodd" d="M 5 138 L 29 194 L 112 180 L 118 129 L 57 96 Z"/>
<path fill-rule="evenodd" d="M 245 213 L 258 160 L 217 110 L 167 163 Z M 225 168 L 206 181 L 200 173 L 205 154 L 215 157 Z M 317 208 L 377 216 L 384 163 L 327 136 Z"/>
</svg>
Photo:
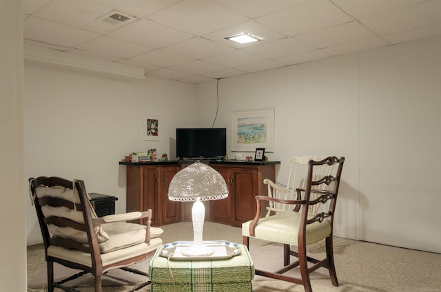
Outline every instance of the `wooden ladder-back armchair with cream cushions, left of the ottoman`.
<svg viewBox="0 0 441 292">
<path fill-rule="evenodd" d="M 150 227 L 152 210 L 98 218 L 90 204 L 84 182 L 60 177 L 29 179 L 32 201 L 43 235 L 48 264 L 48 292 L 55 287 L 76 291 L 63 284 L 86 273 L 94 276 L 94 290 L 101 292 L 101 276 L 110 269 L 125 269 L 147 276 L 129 266 L 145 260 L 162 245 L 161 228 Z M 142 219 L 146 225 L 127 223 Z M 80 273 L 54 282 L 54 262 Z M 134 287 L 136 291 L 150 280 Z"/>
</svg>

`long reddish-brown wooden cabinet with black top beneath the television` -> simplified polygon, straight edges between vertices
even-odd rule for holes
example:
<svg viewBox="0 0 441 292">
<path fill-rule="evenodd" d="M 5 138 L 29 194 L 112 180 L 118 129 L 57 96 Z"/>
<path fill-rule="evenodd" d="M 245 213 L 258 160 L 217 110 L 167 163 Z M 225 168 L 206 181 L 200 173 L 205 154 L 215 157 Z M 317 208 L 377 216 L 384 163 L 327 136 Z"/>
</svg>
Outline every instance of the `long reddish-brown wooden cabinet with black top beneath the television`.
<svg viewBox="0 0 441 292">
<path fill-rule="evenodd" d="M 164 225 L 192 220 L 193 203 L 168 199 L 168 187 L 176 172 L 188 164 L 132 163 L 127 166 L 127 212 L 152 209 L 152 225 Z M 258 194 L 266 195 L 263 179 L 275 180 L 279 161 L 210 161 L 209 166 L 220 172 L 227 183 L 227 199 L 204 201 L 205 221 L 214 221 L 240 227 L 256 214 Z M 265 205 L 262 214 L 265 215 Z"/>
</svg>

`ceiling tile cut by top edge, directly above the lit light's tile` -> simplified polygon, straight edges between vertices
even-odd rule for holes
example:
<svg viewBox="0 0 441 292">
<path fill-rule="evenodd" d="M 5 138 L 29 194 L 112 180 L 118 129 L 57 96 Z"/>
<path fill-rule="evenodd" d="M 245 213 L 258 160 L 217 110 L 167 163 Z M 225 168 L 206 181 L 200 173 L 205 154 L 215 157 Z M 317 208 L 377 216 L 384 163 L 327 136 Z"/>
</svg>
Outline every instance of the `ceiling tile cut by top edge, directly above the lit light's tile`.
<svg viewBox="0 0 441 292">
<path fill-rule="evenodd" d="M 220 5 L 254 19 L 308 0 L 215 0 Z"/>
</svg>

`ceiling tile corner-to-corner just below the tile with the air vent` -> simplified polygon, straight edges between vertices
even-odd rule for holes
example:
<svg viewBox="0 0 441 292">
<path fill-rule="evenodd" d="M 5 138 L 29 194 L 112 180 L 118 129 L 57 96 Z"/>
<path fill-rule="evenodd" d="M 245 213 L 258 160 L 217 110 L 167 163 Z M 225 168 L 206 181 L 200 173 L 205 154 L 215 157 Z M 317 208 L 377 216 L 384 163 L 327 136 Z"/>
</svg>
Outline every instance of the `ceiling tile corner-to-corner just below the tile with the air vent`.
<svg viewBox="0 0 441 292">
<path fill-rule="evenodd" d="M 111 38 L 110 36 L 94 38 L 92 41 L 77 46 L 77 48 L 119 58 L 128 58 L 152 50 L 150 47 L 121 41 L 119 38 Z"/>
</svg>

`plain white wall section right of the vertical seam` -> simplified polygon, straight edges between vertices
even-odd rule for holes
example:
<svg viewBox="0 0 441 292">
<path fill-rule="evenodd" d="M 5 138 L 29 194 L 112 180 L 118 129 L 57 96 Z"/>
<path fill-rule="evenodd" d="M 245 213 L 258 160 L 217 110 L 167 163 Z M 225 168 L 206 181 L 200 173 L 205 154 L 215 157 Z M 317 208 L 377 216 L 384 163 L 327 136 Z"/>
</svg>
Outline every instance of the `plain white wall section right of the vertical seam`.
<svg viewBox="0 0 441 292">
<path fill-rule="evenodd" d="M 441 252 L 441 38 L 362 54 L 362 238 Z"/>
</svg>

